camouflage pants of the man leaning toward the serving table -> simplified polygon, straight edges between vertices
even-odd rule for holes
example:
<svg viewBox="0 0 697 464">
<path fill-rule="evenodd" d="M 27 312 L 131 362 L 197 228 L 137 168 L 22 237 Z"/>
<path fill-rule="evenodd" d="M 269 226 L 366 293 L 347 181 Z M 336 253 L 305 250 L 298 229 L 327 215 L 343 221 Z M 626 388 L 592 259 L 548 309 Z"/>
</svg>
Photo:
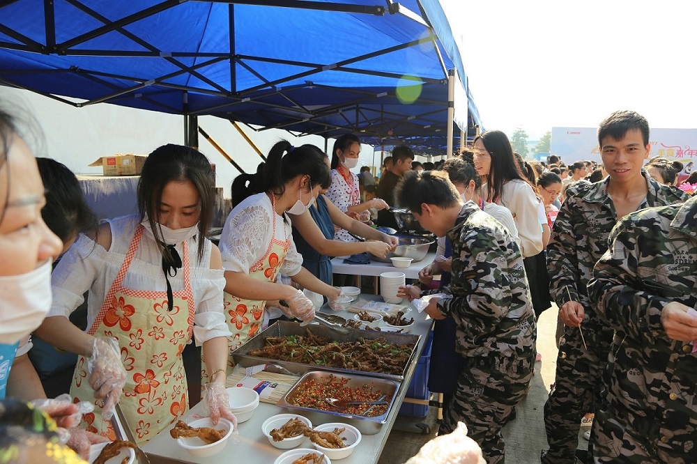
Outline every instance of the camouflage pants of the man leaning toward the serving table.
<svg viewBox="0 0 697 464">
<path fill-rule="evenodd" d="M 487 463 L 505 462 L 501 429 L 526 395 L 533 377 L 535 351 L 519 357 L 470 357 L 458 378 L 457 390 L 438 429 L 442 435 L 464 422 L 468 436 L 482 448 Z"/>
</svg>

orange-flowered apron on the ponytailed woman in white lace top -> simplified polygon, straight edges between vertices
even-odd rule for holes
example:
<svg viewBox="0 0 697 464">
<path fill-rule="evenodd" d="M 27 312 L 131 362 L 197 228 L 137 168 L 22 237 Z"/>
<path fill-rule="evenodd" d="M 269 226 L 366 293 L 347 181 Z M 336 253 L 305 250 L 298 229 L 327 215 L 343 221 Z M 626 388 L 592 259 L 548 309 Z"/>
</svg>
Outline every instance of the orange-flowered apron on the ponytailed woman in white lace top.
<svg viewBox="0 0 697 464">
<path fill-rule="evenodd" d="M 275 202 L 273 196 L 271 198 L 272 209 Z M 276 238 L 276 213 L 273 212 L 273 231 L 271 233 L 271 242 L 266 247 L 266 253 L 252 264 L 250 267 L 250 277 L 263 282 L 273 282 L 276 280 L 276 275 L 281 269 L 281 265 L 286 258 L 286 253 L 291 247 L 291 239 L 278 240 Z M 254 337 L 259 332 L 263 323 L 263 312 L 266 300 L 242 300 L 236 296 L 224 293 L 224 308 L 227 327 L 232 336 L 227 339 L 229 353 L 242 346 L 245 341 Z M 232 372 L 235 366 L 232 356 L 227 359 L 227 375 Z M 208 382 L 208 370 L 206 363 L 201 359 L 201 385 Z"/>
</svg>

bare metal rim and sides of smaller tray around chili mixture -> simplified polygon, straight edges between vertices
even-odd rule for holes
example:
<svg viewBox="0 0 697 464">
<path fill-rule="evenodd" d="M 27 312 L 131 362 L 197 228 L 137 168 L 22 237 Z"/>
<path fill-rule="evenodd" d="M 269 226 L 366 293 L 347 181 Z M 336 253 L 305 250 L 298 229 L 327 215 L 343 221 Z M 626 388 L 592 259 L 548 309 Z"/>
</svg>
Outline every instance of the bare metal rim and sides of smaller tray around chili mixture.
<svg viewBox="0 0 697 464">
<path fill-rule="evenodd" d="M 382 393 L 390 395 L 390 402 L 388 403 L 388 408 L 384 414 L 375 417 L 365 417 L 359 415 L 346 414 L 344 412 L 337 411 L 324 411 L 314 408 L 304 408 L 302 406 L 296 406 L 293 404 L 293 400 L 298 395 L 298 388 L 309 380 L 323 381 L 330 376 L 335 378 L 347 378 L 348 382 L 346 385 L 351 388 L 362 387 L 366 384 L 379 389 Z M 326 424 L 327 422 L 345 422 L 346 424 L 351 424 L 361 433 L 366 435 L 373 435 L 380 431 L 382 424 L 385 424 L 388 420 L 388 415 L 392 406 L 395 404 L 395 396 L 397 396 L 397 390 L 399 389 L 399 383 L 393 380 L 385 380 L 383 378 L 376 377 L 364 377 L 364 376 L 351 376 L 339 373 L 330 373 L 323 371 L 310 371 L 305 373 L 304 376 L 293 385 L 291 389 L 283 396 L 283 398 L 277 403 L 277 405 L 288 408 L 293 411 L 297 411 L 305 415 L 312 424 Z M 340 418 L 340 419 L 339 419 Z"/>
</svg>

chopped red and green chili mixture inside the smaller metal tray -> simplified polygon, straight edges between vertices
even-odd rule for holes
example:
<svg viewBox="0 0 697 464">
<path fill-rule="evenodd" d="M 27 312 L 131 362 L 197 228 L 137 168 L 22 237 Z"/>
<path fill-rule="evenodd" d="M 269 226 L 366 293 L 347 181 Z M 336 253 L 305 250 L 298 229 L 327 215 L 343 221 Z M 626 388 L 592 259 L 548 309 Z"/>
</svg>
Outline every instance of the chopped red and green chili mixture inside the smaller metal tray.
<svg viewBox="0 0 697 464">
<path fill-rule="evenodd" d="M 316 380 L 310 378 L 293 387 L 293 394 L 290 398 L 286 398 L 286 401 L 301 408 L 323 411 L 335 410 L 325 401 L 327 398 L 336 398 L 346 403 L 351 401 L 385 401 L 385 404 L 379 405 L 347 405 L 346 408 L 342 408 L 342 412 L 365 417 L 377 417 L 387 412 L 392 396 L 385 394 L 381 389 L 374 387 L 370 383 L 362 384 L 359 387 L 349 387 L 346 385 L 347 382 L 348 378 L 337 377 L 332 374 L 324 379 Z"/>
</svg>

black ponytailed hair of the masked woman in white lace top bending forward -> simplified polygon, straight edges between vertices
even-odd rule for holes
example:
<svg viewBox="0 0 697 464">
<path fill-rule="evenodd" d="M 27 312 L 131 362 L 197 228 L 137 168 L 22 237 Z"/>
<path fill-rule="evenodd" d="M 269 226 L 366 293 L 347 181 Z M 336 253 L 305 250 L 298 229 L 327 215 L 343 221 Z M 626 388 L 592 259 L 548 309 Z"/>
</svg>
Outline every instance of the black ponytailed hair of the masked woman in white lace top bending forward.
<svg viewBox="0 0 697 464">
<path fill-rule="evenodd" d="M 269 151 L 266 162 L 259 164 L 254 174 L 240 174 L 231 188 L 233 208 L 247 196 L 261 192 L 283 194 L 286 184 L 298 176 L 309 176 L 309 185 L 328 189 L 332 173 L 326 164 L 327 155 L 314 145 L 293 147 L 288 141 L 278 141 Z"/>
</svg>

